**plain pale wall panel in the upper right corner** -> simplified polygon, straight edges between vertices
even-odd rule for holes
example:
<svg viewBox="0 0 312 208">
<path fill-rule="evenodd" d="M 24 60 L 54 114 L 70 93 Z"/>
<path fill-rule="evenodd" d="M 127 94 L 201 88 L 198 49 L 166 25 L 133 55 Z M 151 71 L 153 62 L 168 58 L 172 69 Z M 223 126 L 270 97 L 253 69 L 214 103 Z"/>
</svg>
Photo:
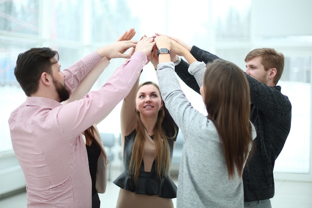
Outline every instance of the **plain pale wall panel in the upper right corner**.
<svg viewBox="0 0 312 208">
<path fill-rule="evenodd" d="M 255 36 L 312 35 L 312 0 L 252 0 Z"/>
</svg>

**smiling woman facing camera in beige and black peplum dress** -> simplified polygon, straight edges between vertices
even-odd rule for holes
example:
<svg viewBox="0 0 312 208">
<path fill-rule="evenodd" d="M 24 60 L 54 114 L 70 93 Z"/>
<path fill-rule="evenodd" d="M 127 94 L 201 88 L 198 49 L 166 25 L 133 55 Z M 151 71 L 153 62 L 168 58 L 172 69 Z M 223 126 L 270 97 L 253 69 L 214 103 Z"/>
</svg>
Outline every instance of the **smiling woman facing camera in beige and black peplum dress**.
<svg viewBox="0 0 312 208">
<path fill-rule="evenodd" d="M 124 172 L 114 181 L 117 208 L 173 208 L 176 185 L 169 173 L 177 126 L 159 87 L 139 80 L 124 99 L 121 134 Z"/>
</svg>

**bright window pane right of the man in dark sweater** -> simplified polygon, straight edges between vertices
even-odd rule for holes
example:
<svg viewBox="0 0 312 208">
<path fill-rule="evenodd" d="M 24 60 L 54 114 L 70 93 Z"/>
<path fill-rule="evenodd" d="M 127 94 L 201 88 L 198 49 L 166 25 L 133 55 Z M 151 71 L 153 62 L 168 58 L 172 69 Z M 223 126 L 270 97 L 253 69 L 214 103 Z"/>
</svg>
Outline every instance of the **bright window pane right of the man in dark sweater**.
<svg viewBox="0 0 312 208">
<path fill-rule="evenodd" d="M 292 103 L 292 126 L 275 172 L 309 174 L 311 155 L 311 66 L 312 55 L 290 53 L 279 82 Z"/>
</svg>

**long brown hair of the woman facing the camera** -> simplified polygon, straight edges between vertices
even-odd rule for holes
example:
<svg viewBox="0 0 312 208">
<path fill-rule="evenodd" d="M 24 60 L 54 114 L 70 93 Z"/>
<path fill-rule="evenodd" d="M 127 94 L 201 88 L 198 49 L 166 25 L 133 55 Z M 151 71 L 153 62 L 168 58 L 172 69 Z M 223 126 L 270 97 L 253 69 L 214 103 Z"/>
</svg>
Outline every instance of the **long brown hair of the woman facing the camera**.
<svg viewBox="0 0 312 208">
<path fill-rule="evenodd" d="M 153 85 L 158 91 L 159 87 L 154 82 L 144 82 L 140 84 L 138 90 L 144 85 Z M 160 95 L 160 91 L 159 91 Z M 135 110 L 135 109 L 134 109 Z M 145 143 L 145 127 L 141 121 L 140 113 L 136 111 L 138 126 L 137 134 L 133 144 L 133 152 L 130 161 L 130 170 L 134 174 L 134 182 L 138 183 L 141 164 L 144 154 Z M 158 111 L 157 122 L 154 127 L 154 143 L 156 146 L 156 175 L 159 179 L 168 172 L 170 167 L 170 151 L 168 146 L 168 139 L 173 139 L 177 135 L 177 125 L 170 116 L 168 110 L 163 104 L 163 107 Z"/>
</svg>

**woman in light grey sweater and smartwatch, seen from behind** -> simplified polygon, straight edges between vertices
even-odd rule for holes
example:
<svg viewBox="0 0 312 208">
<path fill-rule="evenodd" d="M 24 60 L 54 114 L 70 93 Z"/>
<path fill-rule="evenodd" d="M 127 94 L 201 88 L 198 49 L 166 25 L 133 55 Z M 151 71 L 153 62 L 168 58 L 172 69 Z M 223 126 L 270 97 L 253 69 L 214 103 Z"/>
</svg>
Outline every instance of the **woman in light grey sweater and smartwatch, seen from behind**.
<svg viewBox="0 0 312 208">
<path fill-rule="evenodd" d="M 242 208 L 242 173 L 255 129 L 249 121 L 250 92 L 243 71 L 225 60 L 206 66 L 166 36 L 160 49 L 157 78 L 164 103 L 183 134 L 177 208 Z M 170 62 L 171 52 L 189 63 L 208 115 L 195 110 L 183 94 Z"/>
</svg>

